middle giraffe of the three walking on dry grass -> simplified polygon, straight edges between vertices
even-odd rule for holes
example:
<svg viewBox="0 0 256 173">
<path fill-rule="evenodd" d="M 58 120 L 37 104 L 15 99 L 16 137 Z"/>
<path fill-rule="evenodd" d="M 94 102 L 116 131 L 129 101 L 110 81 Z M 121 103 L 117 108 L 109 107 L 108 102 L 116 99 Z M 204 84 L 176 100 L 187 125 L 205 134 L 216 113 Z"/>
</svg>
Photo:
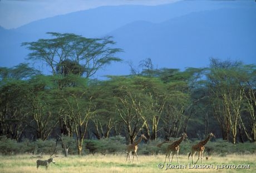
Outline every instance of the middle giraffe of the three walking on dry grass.
<svg viewBox="0 0 256 173">
<path fill-rule="evenodd" d="M 177 152 L 177 160 L 178 160 L 178 164 L 180 164 L 179 162 L 179 150 L 180 150 L 180 143 L 188 136 L 186 136 L 185 133 L 181 134 L 181 137 L 179 140 L 174 141 L 173 144 L 169 145 L 166 149 L 166 154 L 165 154 L 165 162 L 166 162 L 166 157 L 169 155 L 169 163 L 171 163 L 171 161 L 173 161 L 173 157 L 171 158 L 171 153 L 172 156 L 174 156 L 174 152 Z M 170 160 L 171 159 L 171 160 Z"/>
</svg>

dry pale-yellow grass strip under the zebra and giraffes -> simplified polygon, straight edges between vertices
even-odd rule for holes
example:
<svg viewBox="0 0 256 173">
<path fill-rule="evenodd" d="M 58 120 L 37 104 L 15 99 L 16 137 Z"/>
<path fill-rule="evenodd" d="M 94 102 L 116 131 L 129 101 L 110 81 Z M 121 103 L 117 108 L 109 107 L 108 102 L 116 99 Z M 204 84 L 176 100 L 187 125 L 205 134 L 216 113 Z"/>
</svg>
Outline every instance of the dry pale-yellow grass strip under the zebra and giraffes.
<svg viewBox="0 0 256 173">
<path fill-rule="evenodd" d="M 43 160 L 48 159 L 46 156 Z M 125 162 L 126 155 L 87 155 L 87 156 L 70 156 L 56 157 L 56 164 L 50 164 L 47 172 L 255 172 L 256 171 L 256 155 L 227 155 L 210 156 L 209 160 L 203 160 L 204 165 L 213 165 L 215 169 L 191 169 L 188 160 L 188 155 L 180 155 L 179 160 L 181 165 L 185 165 L 186 169 L 166 170 L 166 165 L 163 169 L 159 169 L 157 165 L 164 163 L 165 156 L 141 156 L 139 155 L 140 164 L 137 163 L 136 157 L 134 163 Z M 45 167 L 40 166 L 36 169 L 36 160 L 28 155 L 17 156 L 0 156 L 0 172 L 46 172 Z M 200 161 L 199 161 L 200 163 Z M 198 164 L 199 164 L 198 163 Z M 178 164 L 174 157 L 173 164 Z M 250 169 L 218 169 L 216 165 L 250 165 Z M 193 165 L 190 165 L 190 167 Z"/>
</svg>

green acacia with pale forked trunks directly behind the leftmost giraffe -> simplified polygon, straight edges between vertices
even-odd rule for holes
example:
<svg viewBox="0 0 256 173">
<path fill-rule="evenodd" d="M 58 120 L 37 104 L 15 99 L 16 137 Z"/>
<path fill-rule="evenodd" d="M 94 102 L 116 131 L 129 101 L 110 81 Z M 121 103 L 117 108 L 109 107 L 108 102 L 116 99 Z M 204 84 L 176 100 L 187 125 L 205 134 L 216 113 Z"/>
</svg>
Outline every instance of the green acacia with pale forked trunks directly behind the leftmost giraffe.
<svg viewBox="0 0 256 173">
<path fill-rule="evenodd" d="M 127 143 L 132 144 L 146 123 L 145 95 L 136 88 L 133 78 L 116 77 L 113 82 L 116 110 L 125 127 Z"/>
</svg>

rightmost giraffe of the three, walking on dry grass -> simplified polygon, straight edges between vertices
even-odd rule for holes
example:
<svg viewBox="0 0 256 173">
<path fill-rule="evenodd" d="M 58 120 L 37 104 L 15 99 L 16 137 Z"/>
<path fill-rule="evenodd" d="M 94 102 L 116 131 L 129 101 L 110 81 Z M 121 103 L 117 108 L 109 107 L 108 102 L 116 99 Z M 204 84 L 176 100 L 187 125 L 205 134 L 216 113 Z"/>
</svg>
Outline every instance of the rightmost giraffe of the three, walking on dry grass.
<svg viewBox="0 0 256 173">
<path fill-rule="evenodd" d="M 198 160 L 199 160 L 199 157 L 200 157 L 200 154 L 201 154 L 201 164 L 203 164 L 204 145 L 210 140 L 211 137 L 215 137 L 213 135 L 213 133 L 210 133 L 208 135 L 208 137 L 206 137 L 205 140 L 200 141 L 198 144 L 191 147 L 191 152 L 189 153 L 189 156 L 191 154 L 193 164 L 194 164 L 194 155 L 195 155 L 196 152 L 198 152 Z M 198 160 L 196 160 L 196 162 L 198 162 Z M 195 164 L 196 164 L 196 162 L 195 162 Z"/>
</svg>

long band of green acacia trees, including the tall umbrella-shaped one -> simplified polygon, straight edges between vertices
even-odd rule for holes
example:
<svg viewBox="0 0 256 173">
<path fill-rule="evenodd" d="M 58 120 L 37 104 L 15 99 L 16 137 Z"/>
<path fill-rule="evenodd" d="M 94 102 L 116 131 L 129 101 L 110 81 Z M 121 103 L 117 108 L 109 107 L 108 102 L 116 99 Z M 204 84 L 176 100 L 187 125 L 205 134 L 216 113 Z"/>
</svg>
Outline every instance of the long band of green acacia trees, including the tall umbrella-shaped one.
<svg viewBox="0 0 256 173">
<path fill-rule="evenodd" d="M 127 144 L 144 133 L 169 140 L 182 132 L 223 140 L 256 141 L 256 66 L 210 58 L 209 67 L 154 68 L 150 58 L 130 75 L 91 78 L 121 62 L 111 37 L 85 38 L 48 33 L 52 38 L 22 43 L 28 61 L 0 67 L 0 135 L 9 139 L 85 139 L 121 135 Z M 65 136 L 65 137 L 63 137 Z"/>
</svg>

